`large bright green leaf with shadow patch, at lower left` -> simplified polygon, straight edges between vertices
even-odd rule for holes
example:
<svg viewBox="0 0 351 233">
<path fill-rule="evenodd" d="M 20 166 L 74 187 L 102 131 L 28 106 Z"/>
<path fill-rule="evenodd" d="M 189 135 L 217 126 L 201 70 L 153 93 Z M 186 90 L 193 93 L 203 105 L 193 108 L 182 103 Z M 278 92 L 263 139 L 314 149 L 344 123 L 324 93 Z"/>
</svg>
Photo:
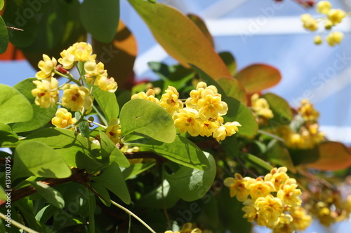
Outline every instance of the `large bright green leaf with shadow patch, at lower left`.
<svg viewBox="0 0 351 233">
<path fill-rule="evenodd" d="M 67 178 L 72 172 L 60 154 L 39 141 L 20 143 L 15 150 L 13 181 L 25 176 Z"/>
</svg>

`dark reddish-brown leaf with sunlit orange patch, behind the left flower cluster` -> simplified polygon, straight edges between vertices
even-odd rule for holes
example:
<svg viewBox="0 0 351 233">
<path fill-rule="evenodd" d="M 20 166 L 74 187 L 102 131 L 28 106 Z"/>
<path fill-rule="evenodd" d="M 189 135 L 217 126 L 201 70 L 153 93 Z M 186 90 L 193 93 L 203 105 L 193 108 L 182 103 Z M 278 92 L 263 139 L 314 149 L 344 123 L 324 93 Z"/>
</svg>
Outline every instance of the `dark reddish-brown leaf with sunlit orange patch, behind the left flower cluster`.
<svg viewBox="0 0 351 233">
<path fill-rule="evenodd" d="M 107 73 L 117 81 L 119 87 L 131 89 L 129 80 L 133 76 L 137 44 L 124 22 L 119 21 L 112 43 L 102 43 L 93 39 L 93 52 L 97 54 L 97 62 L 105 64 Z"/>
</svg>

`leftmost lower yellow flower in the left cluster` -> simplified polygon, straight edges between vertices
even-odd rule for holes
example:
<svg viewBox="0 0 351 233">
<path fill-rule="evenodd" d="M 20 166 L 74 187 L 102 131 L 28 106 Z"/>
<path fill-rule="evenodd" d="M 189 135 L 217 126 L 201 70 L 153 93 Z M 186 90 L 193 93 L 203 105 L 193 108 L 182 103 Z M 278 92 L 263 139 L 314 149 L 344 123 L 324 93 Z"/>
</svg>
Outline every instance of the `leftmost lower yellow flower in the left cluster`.
<svg viewBox="0 0 351 233">
<path fill-rule="evenodd" d="M 58 80 L 56 78 L 51 78 L 51 82 L 48 80 L 34 80 L 33 83 L 37 85 L 37 88 L 32 90 L 35 104 L 41 108 L 55 106 L 58 101 Z"/>
</svg>

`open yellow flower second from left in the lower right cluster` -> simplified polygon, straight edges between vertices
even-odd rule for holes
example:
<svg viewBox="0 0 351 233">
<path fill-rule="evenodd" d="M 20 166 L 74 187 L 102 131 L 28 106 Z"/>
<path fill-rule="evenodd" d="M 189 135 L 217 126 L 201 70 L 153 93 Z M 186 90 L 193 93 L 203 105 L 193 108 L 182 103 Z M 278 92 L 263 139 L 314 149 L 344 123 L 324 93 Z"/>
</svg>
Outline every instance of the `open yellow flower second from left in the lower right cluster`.
<svg viewBox="0 0 351 233">
<path fill-rule="evenodd" d="M 250 196 L 253 200 L 259 197 L 266 197 L 270 192 L 274 192 L 274 185 L 270 181 L 263 181 L 262 178 L 251 178 L 246 183 L 246 189 L 249 190 Z"/>
</svg>

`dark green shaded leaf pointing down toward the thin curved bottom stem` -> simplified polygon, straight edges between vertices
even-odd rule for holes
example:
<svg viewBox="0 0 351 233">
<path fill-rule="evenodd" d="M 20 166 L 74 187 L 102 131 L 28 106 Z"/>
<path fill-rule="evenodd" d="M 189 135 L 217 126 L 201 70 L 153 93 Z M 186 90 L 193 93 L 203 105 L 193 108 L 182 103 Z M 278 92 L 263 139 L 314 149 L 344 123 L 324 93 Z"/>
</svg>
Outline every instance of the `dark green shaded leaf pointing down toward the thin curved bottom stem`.
<svg viewBox="0 0 351 233">
<path fill-rule="evenodd" d="M 126 182 L 116 162 L 112 162 L 100 176 L 93 176 L 91 180 L 103 185 L 117 195 L 124 203 L 131 203 L 131 196 L 129 195 Z"/>
</svg>

